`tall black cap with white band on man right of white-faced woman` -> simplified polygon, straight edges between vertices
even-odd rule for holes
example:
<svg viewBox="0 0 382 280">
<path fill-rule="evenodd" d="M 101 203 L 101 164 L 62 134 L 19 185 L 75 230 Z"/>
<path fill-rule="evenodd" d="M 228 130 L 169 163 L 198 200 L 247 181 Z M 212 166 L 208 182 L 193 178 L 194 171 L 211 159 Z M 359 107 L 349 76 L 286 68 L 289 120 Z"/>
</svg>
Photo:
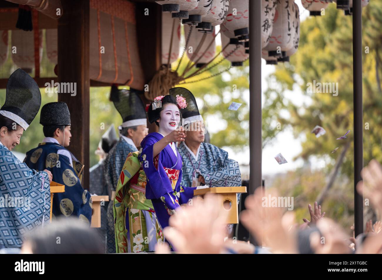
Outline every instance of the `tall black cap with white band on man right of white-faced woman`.
<svg viewBox="0 0 382 280">
<path fill-rule="evenodd" d="M 201 114 L 199 114 L 199 109 L 197 108 L 196 99 L 194 95 L 186 88 L 171 88 L 170 95 L 175 99 L 177 95 L 181 95 L 186 99 L 187 107 L 180 109 L 180 112 L 185 119 L 185 123 L 197 122 L 203 120 Z"/>
</svg>

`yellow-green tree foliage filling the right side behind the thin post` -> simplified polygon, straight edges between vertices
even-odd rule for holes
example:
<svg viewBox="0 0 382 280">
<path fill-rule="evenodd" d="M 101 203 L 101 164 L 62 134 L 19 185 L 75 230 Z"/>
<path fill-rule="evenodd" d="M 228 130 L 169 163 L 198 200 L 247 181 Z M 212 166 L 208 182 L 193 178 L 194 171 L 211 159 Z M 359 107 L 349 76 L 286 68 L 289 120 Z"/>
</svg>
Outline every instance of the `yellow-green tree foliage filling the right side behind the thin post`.
<svg viewBox="0 0 382 280">
<path fill-rule="evenodd" d="M 381 90 L 380 76 L 382 61 L 380 46 L 382 44 L 382 2 L 371 1 L 363 9 L 363 123 L 364 125 L 364 164 L 372 158 L 382 161 L 380 139 L 382 138 L 381 123 Z M 345 155 L 340 174 L 324 200 L 323 211 L 327 216 L 340 220 L 344 226 L 349 226 L 349 215 L 353 215 L 353 35 L 352 17 L 344 16 L 343 11 L 337 10 L 335 4 L 329 5 L 325 16 L 309 17 L 301 23 L 300 42 L 297 53 L 290 58 L 290 63 L 279 64 L 269 78 L 269 89 L 264 93 L 266 107 L 277 108 L 274 115 L 269 116 L 274 123 L 282 123 L 282 127 L 293 128 L 295 136 L 303 136 L 302 152 L 296 158 L 304 160 L 311 156 L 329 158 L 325 168 L 326 178 L 329 177 L 335 160 L 340 155 L 346 142 L 351 146 Z M 367 48 L 366 48 L 367 47 Z M 368 51 L 367 51 L 368 50 Z M 312 93 L 308 83 L 338 83 L 338 96 L 332 93 Z M 299 86 L 309 102 L 303 106 L 293 104 L 285 99 L 285 91 Z M 269 100 L 268 100 L 269 99 Z M 288 112 L 288 114 L 283 114 Z M 264 122 L 269 120 L 264 119 Z M 326 134 L 316 138 L 311 133 L 314 126 L 325 128 Z M 347 130 L 351 130 L 348 138 L 336 140 Z M 340 149 L 331 153 L 335 147 Z M 308 215 L 307 204 L 314 200 L 322 190 L 327 180 L 320 180 L 319 186 L 302 179 L 306 173 L 289 175 L 298 183 L 290 187 L 292 178 L 275 182 L 285 194 L 304 197 L 303 205 L 295 207 L 297 212 Z M 297 174 L 297 175 L 296 175 Z M 296 177 L 297 176 L 297 177 Z M 301 178 L 299 178 L 301 176 Z M 313 174 L 312 174 L 313 176 Z M 309 176 L 308 176 L 309 177 Z M 311 181 L 309 179 L 309 181 Z M 290 186 L 288 186 L 290 185 Z M 292 184 L 293 185 L 293 184 Z M 302 207 L 299 209 L 299 207 Z M 298 218 L 301 218 L 298 215 Z M 309 218 L 309 216 L 307 216 Z"/>
</svg>

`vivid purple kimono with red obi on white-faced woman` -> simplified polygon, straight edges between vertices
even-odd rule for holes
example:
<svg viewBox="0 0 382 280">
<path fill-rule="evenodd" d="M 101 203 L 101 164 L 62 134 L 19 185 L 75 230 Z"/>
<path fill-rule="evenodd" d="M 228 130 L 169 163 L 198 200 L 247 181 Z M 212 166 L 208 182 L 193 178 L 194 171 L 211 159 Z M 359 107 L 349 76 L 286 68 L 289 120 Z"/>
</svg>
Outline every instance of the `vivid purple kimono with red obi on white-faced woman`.
<svg viewBox="0 0 382 280">
<path fill-rule="evenodd" d="M 162 139 L 160 133 L 148 134 L 141 142 L 139 161 L 146 174 L 146 198 L 151 199 L 159 225 L 168 226 L 168 219 L 180 204 L 188 203 L 196 187 L 182 187 L 182 157 L 167 145 L 156 157 L 153 147 Z"/>
</svg>

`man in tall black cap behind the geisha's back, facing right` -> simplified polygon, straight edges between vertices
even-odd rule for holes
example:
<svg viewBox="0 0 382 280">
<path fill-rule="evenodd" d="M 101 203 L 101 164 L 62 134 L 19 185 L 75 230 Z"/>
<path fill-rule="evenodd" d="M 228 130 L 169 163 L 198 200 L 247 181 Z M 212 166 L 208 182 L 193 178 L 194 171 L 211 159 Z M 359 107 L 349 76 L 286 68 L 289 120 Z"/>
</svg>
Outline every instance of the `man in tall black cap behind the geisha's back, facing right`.
<svg viewBox="0 0 382 280">
<path fill-rule="evenodd" d="M 104 178 L 110 202 L 113 202 L 115 189 L 127 155 L 129 152 L 138 151 L 137 147 L 147 135 L 147 118 L 143 102 L 137 91 L 133 89 L 118 90 L 117 86 L 113 85 L 110 101 L 113 101 L 123 120 L 123 123 L 118 126 L 120 138 L 109 151 L 104 162 Z M 106 247 L 106 253 L 116 252 L 113 203 L 109 203 L 107 208 Z"/>
</svg>

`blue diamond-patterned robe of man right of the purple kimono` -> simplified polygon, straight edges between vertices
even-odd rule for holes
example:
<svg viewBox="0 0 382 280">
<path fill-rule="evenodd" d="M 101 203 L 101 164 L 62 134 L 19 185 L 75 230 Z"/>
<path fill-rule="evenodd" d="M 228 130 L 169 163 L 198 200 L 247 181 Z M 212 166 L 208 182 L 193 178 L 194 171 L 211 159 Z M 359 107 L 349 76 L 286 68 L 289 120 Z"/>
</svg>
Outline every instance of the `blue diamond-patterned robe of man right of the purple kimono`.
<svg viewBox="0 0 382 280">
<path fill-rule="evenodd" d="M 210 187 L 241 186 L 239 164 L 228 158 L 228 153 L 218 147 L 201 143 L 195 159 L 185 142 L 178 147 L 183 160 L 182 186 L 192 186 L 193 178 L 201 174 Z"/>
</svg>

